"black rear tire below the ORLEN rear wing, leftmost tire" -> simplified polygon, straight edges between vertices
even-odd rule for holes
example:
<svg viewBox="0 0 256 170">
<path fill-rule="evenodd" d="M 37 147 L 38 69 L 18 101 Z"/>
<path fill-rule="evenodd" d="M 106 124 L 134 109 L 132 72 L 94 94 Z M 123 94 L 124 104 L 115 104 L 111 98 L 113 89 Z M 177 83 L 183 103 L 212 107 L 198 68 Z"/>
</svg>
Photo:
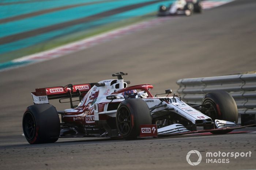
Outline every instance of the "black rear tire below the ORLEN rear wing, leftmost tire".
<svg viewBox="0 0 256 170">
<path fill-rule="evenodd" d="M 59 114 L 51 104 L 29 106 L 23 115 L 22 127 L 30 144 L 54 143 L 60 135 Z"/>
</svg>

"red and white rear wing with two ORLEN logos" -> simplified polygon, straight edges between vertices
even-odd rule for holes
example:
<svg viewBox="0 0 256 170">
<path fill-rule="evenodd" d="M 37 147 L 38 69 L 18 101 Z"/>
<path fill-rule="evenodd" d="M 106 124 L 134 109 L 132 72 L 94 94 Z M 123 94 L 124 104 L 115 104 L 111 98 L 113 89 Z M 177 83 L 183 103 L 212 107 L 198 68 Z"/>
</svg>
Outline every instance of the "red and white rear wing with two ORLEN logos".
<svg viewBox="0 0 256 170">
<path fill-rule="evenodd" d="M 71 108 L 73 108 L 72 98 L 84 96 L 95 83 L 86 84 L 68 84 L 67 86 L 57 86 L 57 87 L 46 87 L 46 88 L 36 88 L 35 92 L 31 92 L 34 104 L 45 104 L 49 103 L 51 99 L 70 99 Z"/>
</svg>

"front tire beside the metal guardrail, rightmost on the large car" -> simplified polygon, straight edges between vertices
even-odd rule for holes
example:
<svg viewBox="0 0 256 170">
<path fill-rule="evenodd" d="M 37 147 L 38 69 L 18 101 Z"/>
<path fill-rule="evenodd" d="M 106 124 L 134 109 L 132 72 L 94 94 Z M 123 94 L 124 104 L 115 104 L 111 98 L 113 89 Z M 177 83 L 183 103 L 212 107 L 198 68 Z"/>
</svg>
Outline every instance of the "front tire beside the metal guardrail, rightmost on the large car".
<svg viewBox="0 0 256 170">
<path fill-rule="evenodd" d="M 237 105 L 233 97 L 226 91 L 208 93 L 203 98 L 203 105 L 208 104 L 210 108 L 204 113 L 214 122 L 215 119 L 238 122 Z M 232 130 L 214 131 L 213 134 L 225 134 Z"/>
</svg>

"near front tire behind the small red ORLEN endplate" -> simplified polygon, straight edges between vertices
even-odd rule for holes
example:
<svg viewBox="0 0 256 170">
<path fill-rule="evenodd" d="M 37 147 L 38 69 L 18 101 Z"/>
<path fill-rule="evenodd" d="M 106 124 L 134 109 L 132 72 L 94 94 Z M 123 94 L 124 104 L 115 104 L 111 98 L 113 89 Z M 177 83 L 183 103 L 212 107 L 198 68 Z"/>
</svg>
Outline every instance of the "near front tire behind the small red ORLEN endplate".
<svg viewBox="0 0 256 170">
<path fill-rule="evenodd" d="M 150 110 L 144 100 L 127 99 L 118 106 L 116 126 L 125 140 L 136 139 L 140 134 L 140 125 L 151 123 Z"/>
</svg>

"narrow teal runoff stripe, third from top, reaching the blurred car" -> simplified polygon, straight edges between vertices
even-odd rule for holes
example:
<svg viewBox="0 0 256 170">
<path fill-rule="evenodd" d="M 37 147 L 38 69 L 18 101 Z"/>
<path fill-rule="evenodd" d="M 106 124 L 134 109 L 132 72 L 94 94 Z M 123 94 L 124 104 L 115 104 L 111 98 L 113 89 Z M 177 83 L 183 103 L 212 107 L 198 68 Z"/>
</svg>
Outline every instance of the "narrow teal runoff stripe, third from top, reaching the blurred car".
<svg viewBox="0 0 256 170">
<path fill-rule="evenodd" d="M 174 1 L 174 0 L 172 0 L 172 1 Z M 55 37 L 65 36 L 70 33 L 78 32 L 78 31 L 90 30 L 90 29 L 99 27 L 104 24 L 114 23 L 114 22 L 121 21 L 124 19 L 129 19 L 131 17 L 146 15 L 147 13 L 157 11 L 159 5 L 164 4 L 164 3 L 172 3 L 172 1 L 168 0 L 168 1 L 163 1 L 160 3 L 155 3 L 152 5 L 147 5 L 142 8 L 133 9 L 133 10 L 130 10 L 127 12 L 122 12 L 122 13 L 112 15 L 109 17 L 105 17 L 105 18 L 102 18 L 102 19 L 99 19 L 96 21 L 74 25 L 72 27 L 68 27 L 65 29 L 59 29 L 57 31 L 51 31 L 49 33 L 44 33 L 44 34 L 30 37 L 27 39 L 22 39 L 19 41 L 15 41 L 13 43 L 3 44 L 3 45 L 0 45 L 0 54 L 19 50 L 19 49 L 26 48 L 26 47 L 30 47 L 35 44 L 47 41 L 49 39 L 54 39 Z"/>
</svg>

